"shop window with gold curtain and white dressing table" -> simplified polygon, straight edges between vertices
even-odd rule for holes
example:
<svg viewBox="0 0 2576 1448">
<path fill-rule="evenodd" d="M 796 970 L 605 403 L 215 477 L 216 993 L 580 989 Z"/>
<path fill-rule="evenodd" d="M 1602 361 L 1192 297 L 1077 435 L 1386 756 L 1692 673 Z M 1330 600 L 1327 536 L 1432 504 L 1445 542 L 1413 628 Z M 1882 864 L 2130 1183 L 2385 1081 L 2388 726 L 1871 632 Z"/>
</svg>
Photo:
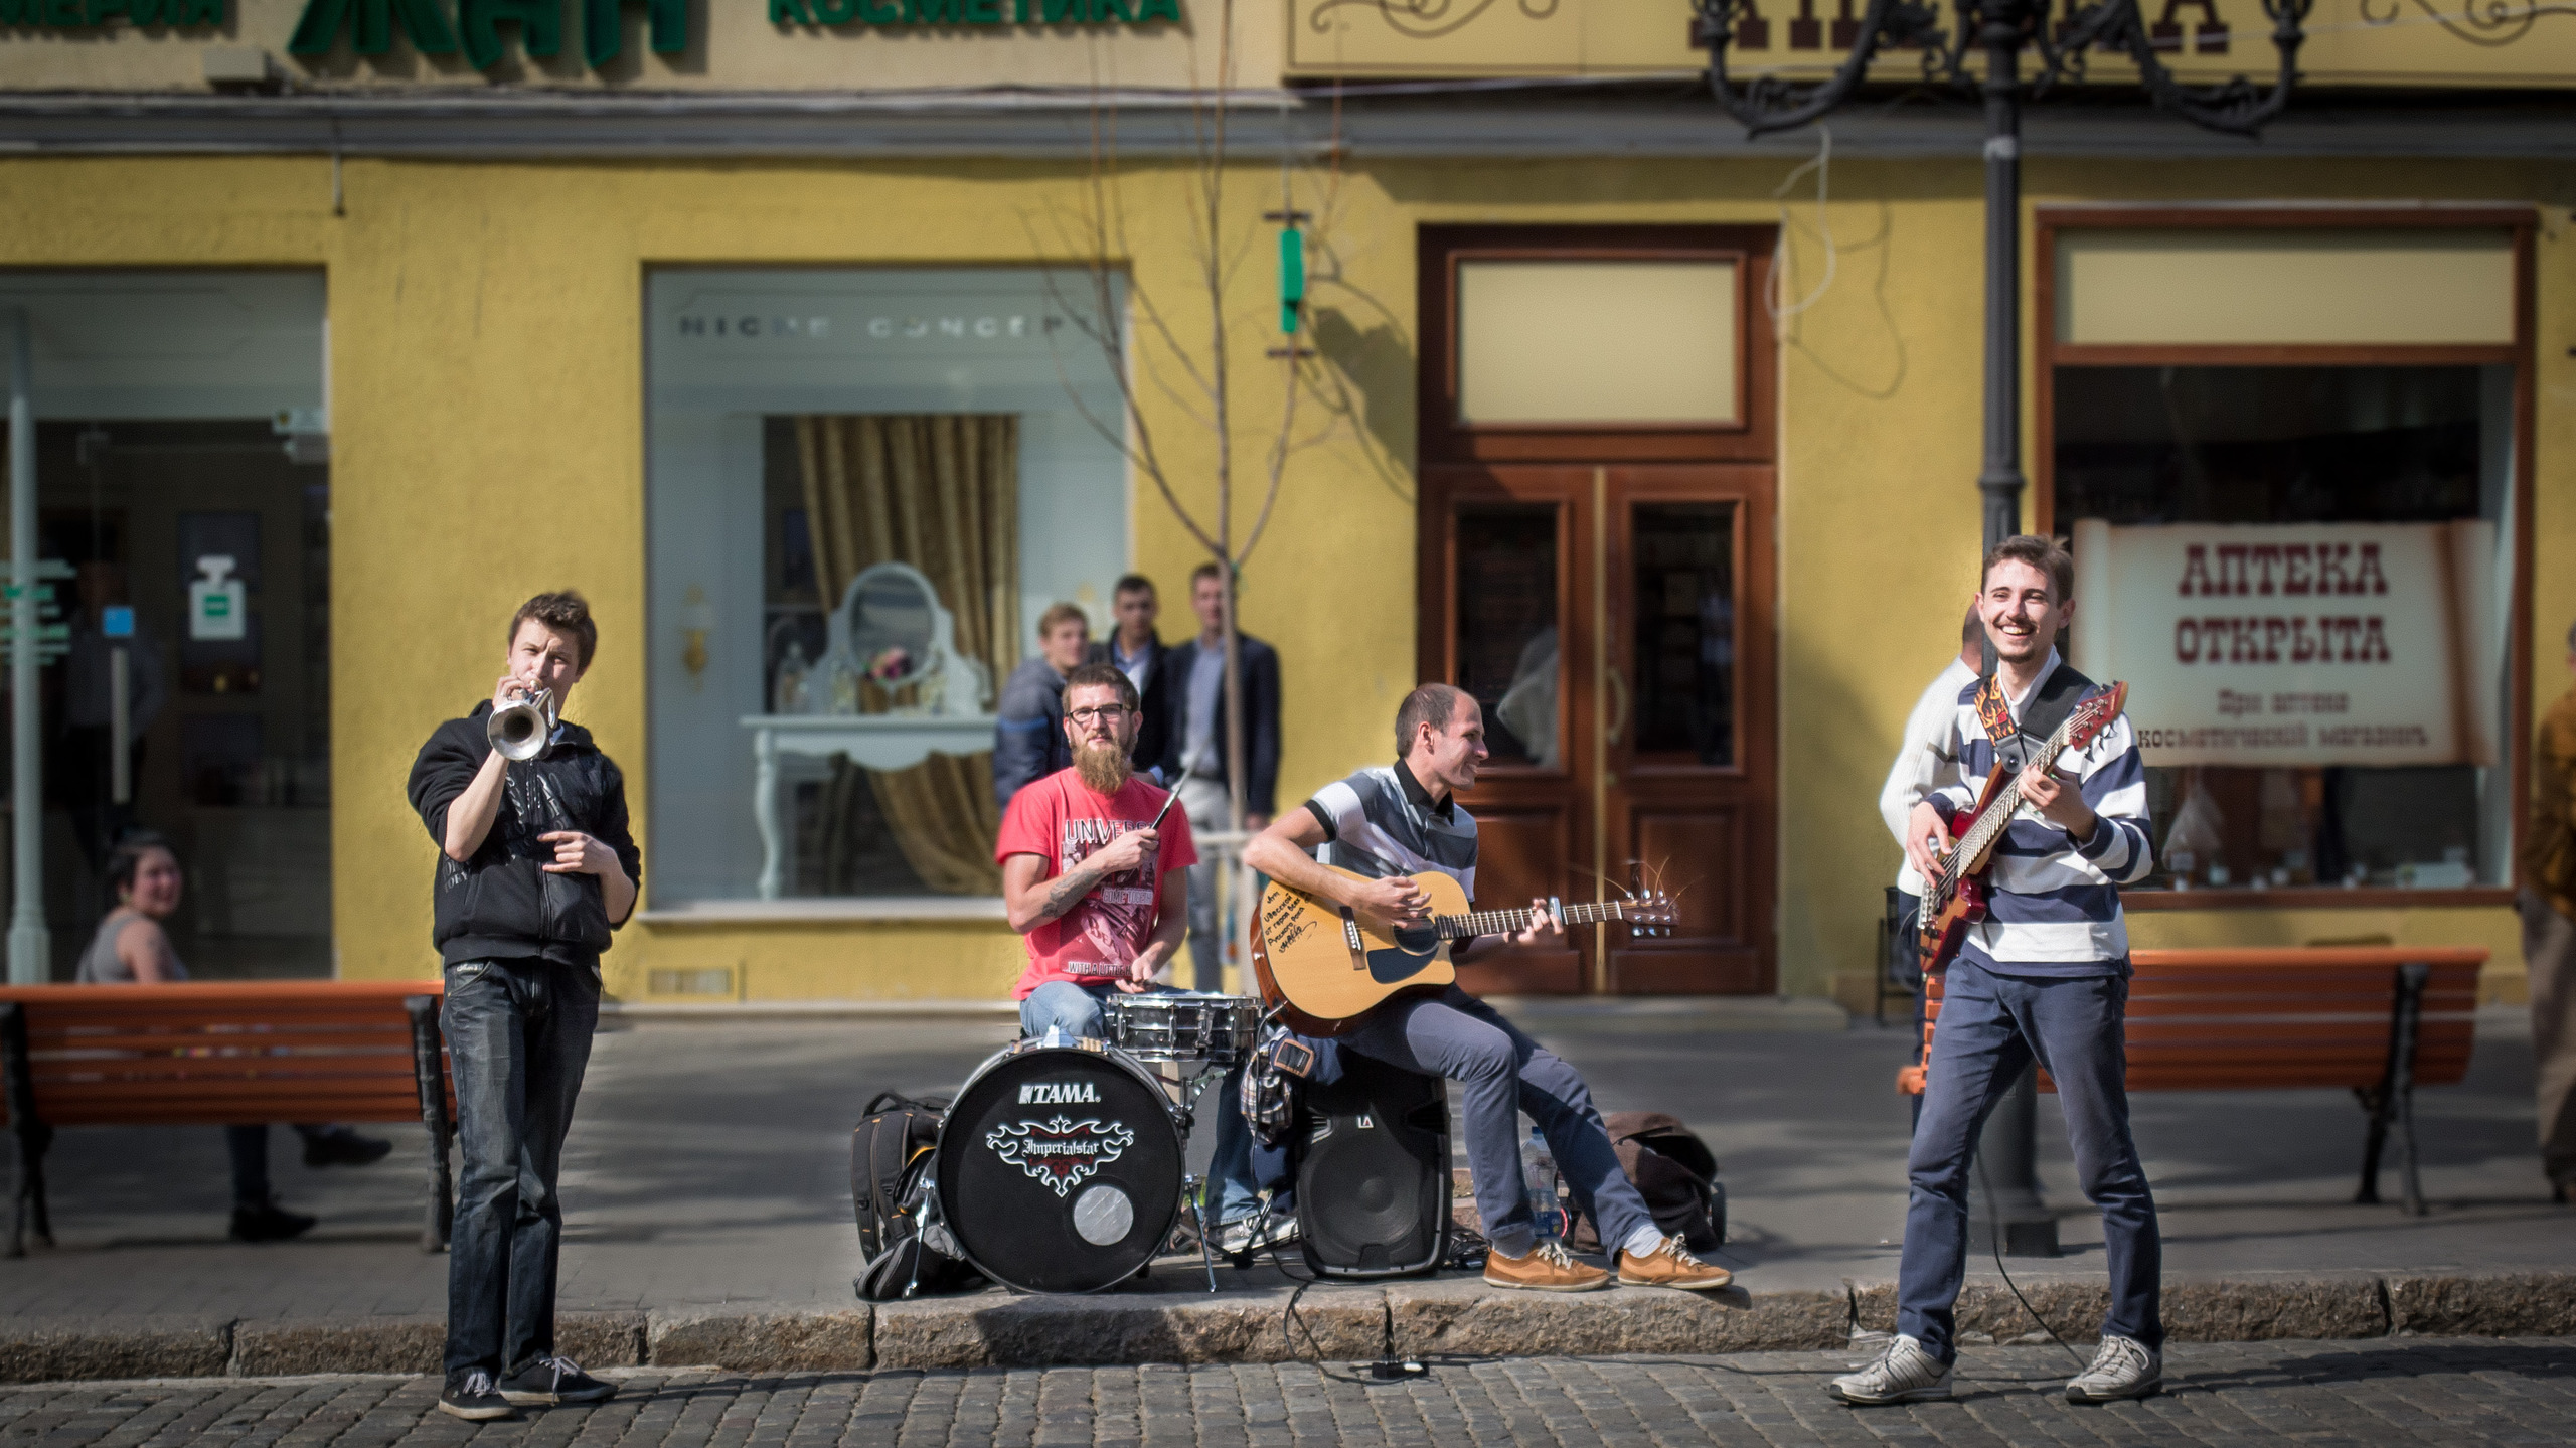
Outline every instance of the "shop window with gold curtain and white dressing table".
<svg viewBox="0 0 2576 1448">
<path fill-rule="evenodd" d="M 997 894 L 992 698 L 1126 572 L 1105 358 L 1043 273 L 667 271 L 649 312 L 654 910 Z M 938 696 L 835 657 L 876 564 L 953 629 Z"/>
</svg>

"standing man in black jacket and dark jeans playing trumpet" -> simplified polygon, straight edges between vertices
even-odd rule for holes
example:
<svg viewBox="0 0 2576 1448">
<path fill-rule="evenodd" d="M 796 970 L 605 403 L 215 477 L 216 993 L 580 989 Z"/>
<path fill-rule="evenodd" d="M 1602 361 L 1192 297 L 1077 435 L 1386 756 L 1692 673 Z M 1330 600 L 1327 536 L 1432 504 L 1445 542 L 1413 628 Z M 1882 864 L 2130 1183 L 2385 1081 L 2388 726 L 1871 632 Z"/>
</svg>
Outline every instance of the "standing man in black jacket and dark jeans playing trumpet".
<svg viewBox="0 0 2576 1448">
<path fill-rule="evenodd" d="M 438 1407 L 466 1420 L 611 1391 L 554 1350 L 554 1193 L 572 1100 L 600 1018 L 600 951 L 626 922 L 644 858 L 626 830 L 626 776 L 562 724 L 600 631 L 577 593 L 510 618 L 510 672 L 448 719 L 412 763 L 412 809 L 438 843 L 433 894 L 456 1077 L 456 1224 Z M 487 742 L 495 709 L 551 693 L 546 747 L 513 763 Z"/>
</svg>

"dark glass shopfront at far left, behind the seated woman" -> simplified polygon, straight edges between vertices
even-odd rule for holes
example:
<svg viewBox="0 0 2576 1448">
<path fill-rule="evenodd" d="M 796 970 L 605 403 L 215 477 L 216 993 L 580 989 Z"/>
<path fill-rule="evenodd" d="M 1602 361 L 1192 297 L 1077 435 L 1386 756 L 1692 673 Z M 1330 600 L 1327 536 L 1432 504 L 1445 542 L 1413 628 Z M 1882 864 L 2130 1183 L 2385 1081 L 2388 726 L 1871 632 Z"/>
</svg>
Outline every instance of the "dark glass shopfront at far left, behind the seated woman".
<svg viewBox="0 0 2576 1448">
<path fill-rule="evenodd" d="M 31 317 L 39 557 L 70 575 L 72 652 L 41 675 L 54 971 L 70 979 L 113 904 L 106 850 L 139 827 L 185 866 L 170 935 L 193 976 L 330 976 L 322 273 L 0 273 L 0 307 Z M 111 605 L 134 629 L 126 801 Z"/>
</svg>

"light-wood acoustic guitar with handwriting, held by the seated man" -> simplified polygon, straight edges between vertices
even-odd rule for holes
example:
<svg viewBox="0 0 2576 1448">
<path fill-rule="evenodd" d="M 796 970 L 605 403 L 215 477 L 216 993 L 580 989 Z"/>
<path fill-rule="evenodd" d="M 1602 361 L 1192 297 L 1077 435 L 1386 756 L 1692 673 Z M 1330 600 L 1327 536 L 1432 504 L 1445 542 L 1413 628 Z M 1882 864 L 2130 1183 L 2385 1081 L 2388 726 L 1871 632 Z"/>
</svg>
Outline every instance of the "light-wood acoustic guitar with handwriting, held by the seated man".
<svg viewBox="0 0 2576 1448">
<path fill-rule="evenodd" d="M 1368 879 L 1324 866 L 1337 876 Z M 1466 891 L 1440 871 L 1412 876 L 1430 897 L 1432 917 L 1422 925 L 1383 930 L 1345 904 L 1306 894 L 1285 881 L 1262 889 L 1252 920 L 1252 976 L 1262 1005 L 1303 1036 L 1340 1036 L 1363 1015 L 1399 995 L 1437 992 L 1455 984 L 1450 940 L 1476 935 L 1517 935 L 1530 928 L 1530 907 L 1468 910 Z M 1564 904 L 1566 925 L 1623 922 L 1638 935 L 1669 933 L 1674 910 L 1664 891 L 1628 899 Z"/>
</svg>

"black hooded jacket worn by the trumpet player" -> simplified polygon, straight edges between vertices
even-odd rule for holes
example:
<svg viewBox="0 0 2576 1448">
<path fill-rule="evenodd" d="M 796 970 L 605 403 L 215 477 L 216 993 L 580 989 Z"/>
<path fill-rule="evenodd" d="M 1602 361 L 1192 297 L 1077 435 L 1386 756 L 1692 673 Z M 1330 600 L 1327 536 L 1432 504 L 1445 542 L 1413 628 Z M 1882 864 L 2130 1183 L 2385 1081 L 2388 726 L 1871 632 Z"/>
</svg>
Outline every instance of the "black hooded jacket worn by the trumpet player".
<svg viewBox="0 0 2576 1448">
<path fill-rule="evenodd" d="M 446 855 L 448 804 L 474 783 L 492 745 L 484 724 L 492 701 L 464 719 L 448 719 L 412 760 L 412 809 L 438 843 L 438 884 L 430 930 L 446 964 L 541 956 L 590 964 L 608 948 L 608 904 L 598 876 L 546 873 L 554 845 L 538 835 L 580 830 L 626 866 L 644 886 L 644 855 L 626 827 L 626 776 L 590 742 L 590 729 L 564 724 L 544 757 L 510 765 L 500 814 L 471 861 Z"/>
</svg>

